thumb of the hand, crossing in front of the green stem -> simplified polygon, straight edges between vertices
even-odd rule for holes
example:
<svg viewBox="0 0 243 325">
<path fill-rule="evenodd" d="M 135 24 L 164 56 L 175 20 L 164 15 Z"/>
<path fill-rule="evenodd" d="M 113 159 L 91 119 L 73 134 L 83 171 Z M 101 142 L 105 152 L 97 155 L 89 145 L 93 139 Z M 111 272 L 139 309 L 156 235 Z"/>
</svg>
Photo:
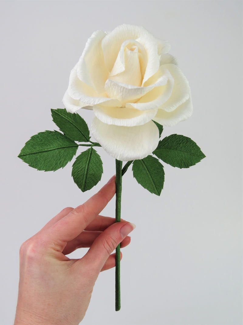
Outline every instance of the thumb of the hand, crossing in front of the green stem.
<svg viewBox="0 0 243 325">
<path fill-rule="evenodd" d="M 135 227 L 134 224 L 127 221 L 114 223 L 97 237 L 83 259 L 87 259 L 87 262 L 92 264 L 94 271 L 99 273 L 117 245 L 133 231 Z"/>
</svg>

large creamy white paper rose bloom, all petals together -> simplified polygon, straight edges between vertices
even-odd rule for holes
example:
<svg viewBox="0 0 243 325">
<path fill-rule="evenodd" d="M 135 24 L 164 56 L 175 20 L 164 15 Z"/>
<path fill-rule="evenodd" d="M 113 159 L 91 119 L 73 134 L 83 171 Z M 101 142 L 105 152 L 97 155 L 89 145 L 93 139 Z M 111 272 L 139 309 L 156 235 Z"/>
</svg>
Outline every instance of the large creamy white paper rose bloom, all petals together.
<svg viewBox="0 0 243 325">
<path fill-rule="evenodd" d="M 169 49 L 143 27 L 121 25 L 94 32 L 71 71 L 66 110 L 93 109 L 92 135 L 118 160 L 143 159 L 156 149 L 153 121 L 172 126 L 192 114 L 188 81 Z"/>
</svg>

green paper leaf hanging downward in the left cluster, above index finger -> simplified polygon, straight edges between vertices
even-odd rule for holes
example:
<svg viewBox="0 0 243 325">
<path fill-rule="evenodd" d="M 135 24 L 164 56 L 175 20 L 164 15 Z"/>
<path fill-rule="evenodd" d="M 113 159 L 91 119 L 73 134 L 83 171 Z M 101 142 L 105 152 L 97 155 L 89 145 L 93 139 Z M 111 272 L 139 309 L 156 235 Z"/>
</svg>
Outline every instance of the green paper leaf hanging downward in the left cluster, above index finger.
<svg viewBox="0 0 243 325">
<path fill-rule="evenodd" d="M 73 164 L 72 176 L 82 192 L 95 186 L 100 181 L 102 173 L 102 161 L 93 148 L 82 152 Z"/>
</svg>

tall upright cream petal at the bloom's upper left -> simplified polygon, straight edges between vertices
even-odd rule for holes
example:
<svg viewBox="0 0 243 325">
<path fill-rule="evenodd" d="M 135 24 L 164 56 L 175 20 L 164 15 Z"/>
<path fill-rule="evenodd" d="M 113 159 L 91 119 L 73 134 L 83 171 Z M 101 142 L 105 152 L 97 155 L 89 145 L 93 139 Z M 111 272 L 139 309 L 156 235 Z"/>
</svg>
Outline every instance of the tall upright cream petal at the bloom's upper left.
<svg viewBox="0 0 243 325">
<path fill-rule="evenodd" d="M 94 88 L 97 93 L 104 92 L 105 81 L 109 74 L 101 47 L 101 41 L 105 36 L 106 33 L 102 31 L 94 32 L 91 35 L 77 66 L 78 78 Z"/>
</svg>

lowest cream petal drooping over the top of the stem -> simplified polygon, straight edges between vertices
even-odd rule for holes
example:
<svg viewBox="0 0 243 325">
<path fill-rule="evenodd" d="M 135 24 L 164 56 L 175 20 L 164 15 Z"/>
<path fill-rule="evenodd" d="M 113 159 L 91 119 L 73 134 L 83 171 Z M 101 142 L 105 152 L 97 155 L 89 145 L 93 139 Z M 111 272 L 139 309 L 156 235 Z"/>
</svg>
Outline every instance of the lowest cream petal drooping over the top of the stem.
<svg viewBox="0 0 243 325">
<path fill-rule="evenodd" d="M 110 156 L 121 161 L 147 157 L 157 148 L 159 141 L 158 128 L 152 121 L 139 126 L 117 126 L 95 117 L 91 132 Z"/>
</svg>

